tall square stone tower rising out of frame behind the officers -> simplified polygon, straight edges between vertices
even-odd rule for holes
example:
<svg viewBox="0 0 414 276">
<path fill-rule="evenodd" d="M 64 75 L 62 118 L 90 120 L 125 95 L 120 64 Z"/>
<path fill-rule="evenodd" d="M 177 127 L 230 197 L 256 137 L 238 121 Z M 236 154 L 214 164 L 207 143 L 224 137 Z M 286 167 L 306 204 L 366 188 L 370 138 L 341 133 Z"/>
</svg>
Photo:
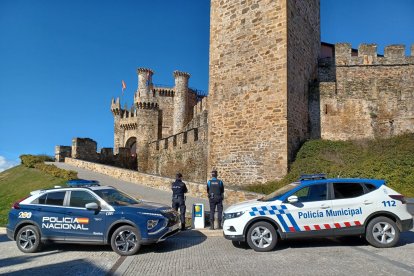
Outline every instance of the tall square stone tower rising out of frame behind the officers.
<svg viewBox="0 0 414 276">
<path fill-rule="evenodd" d="M 229 184 L 283 177 L 308 138 L 319 0 L 211 0 L 208 170 Z"/>
</svg>

